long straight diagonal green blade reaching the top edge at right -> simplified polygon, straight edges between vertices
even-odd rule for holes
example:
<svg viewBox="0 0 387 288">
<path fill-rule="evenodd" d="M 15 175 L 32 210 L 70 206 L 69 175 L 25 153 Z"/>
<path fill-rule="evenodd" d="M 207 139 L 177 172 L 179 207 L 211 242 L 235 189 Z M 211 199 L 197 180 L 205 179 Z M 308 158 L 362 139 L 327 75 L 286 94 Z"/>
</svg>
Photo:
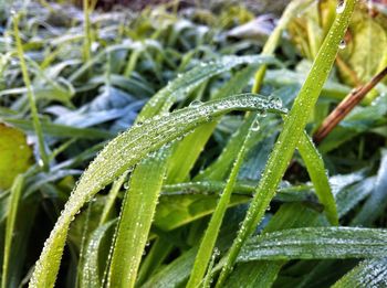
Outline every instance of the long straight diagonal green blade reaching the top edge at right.
<svg viewBox="0 0 387 288">
<path fill-rule="evenodd" d="M 299 96 L 294 100 L 290 115 L 284 121 L 284 128 L 269 157 L 268 164 L 258 185 L 254 199 L 250 204 L 243 224 L 227 256 L 227 264 L 223 266 L 217 287 L 223 285 L 233 267 L 243 243 L 261 221 L 270 201 L 275 194 L 275 189 L 286 170 L 294 149 L 302 137 L 321 89 L 331 72 L 339 42 L 348 26 L 355 7 L 355 0 L 346 0 L 343 4 L 344 10 L 336 17 L 328 35 L 318 51 L 310 74 L 302 86 Z"/>
</svg>

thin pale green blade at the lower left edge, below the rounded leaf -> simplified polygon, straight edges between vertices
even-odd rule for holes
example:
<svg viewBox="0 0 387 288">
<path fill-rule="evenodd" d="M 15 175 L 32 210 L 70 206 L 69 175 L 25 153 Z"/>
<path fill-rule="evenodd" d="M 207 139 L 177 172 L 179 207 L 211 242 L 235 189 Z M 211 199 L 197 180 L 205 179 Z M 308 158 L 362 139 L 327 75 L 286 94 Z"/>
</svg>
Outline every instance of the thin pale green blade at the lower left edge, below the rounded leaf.
<svg viewBox="0 0 387 288">
<path fill-rule="evenodd" d="M 14 235 L 14 226 L 18 214 L 19 200 L 24 184 L 24 175 L 19 174 L 12 184 L 11 194 L 8 204 L 8 216 L 6 226 L 4 255 L 2 262 L 1 287 L 9 287 L 9 262 L 12 248 L 12 238 Z"/>
</svg>

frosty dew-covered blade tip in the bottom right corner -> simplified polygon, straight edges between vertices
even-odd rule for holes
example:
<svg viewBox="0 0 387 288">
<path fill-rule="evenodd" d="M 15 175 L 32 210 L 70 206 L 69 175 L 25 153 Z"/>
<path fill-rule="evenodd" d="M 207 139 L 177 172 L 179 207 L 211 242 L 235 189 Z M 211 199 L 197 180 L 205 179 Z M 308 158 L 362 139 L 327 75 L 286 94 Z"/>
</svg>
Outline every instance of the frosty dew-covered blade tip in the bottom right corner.
<svg viewBox="0 0 387 288">
<path fill-rule="evenodd" d="M 364 260 L 332 286 L 346 287 L 387 287 L 387 258 Z"/>
</svg>

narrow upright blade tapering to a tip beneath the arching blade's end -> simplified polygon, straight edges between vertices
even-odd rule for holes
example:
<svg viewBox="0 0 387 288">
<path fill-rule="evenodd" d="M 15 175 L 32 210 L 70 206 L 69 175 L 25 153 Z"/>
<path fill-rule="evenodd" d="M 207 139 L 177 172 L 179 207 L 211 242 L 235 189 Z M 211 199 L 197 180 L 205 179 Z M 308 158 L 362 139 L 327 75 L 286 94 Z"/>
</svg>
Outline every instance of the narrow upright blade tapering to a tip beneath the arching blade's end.
<svg viewBox="0 0 387 288">
<path fill-rule="evenodd" d="M 259 120 L 259 116 L 254 116 L 253 120 L 250 122 L 250 126 L 252 127 L 255 125 L 255 121 Z M 251 128 L 249 129 L 251 131 Z M 236 185 L 237 177 L 239 173 L 239 170 L 241 168 L 241 164 L 243 162 L 244 152 L 245 152 L 245 145 L 247 141 L 250 138 L 250 132 L 248 132 L 247 137 L 244 138 L 244 141 L 242 146 L 240 147 L 239 153 L 234 160 L 234 163 L 231 168 L 231 172 L 229 175 L 229 179 L 226 183 L 223 192 L 220 194 L 220 199 L 218 202 L 218 205 L 216 210 L 212 213 L 211 220 L 208 224 L 208 227 L 206 230 L 205 236 L 200 242 L 199 250 L 195 259 L 194 268 L 191 271 L 191 276 L 188 280 L 187 287 L 195 288 L 200 285 L 202 281 L 202 278 L 206 274 L 207 267 L 210 263 L 211 255 L 218 238 L 220 225 L 222 223 L 227 206 L 230 202 L 232 190 Z"/>
</svg>

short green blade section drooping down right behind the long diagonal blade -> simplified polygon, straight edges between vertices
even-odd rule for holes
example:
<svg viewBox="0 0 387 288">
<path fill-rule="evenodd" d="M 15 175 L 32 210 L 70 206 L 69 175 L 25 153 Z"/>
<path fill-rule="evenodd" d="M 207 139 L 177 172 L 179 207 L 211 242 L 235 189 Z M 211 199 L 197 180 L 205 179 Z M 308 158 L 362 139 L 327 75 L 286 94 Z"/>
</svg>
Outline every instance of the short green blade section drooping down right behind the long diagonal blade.
<svg viewBox="0 0 387 288">
<path fill-rule="evenodd" d="M 336 202 L 334 195 L 332 194 L 328 177 L 324 169 L 324 161 L 306 132 L 304 132 L 297 148 L 302 159 L 304 160 L 317 198 L 324 205 L 326 217 L 332 225 L 337 226 L 338 214 Z"/>
</svg>

